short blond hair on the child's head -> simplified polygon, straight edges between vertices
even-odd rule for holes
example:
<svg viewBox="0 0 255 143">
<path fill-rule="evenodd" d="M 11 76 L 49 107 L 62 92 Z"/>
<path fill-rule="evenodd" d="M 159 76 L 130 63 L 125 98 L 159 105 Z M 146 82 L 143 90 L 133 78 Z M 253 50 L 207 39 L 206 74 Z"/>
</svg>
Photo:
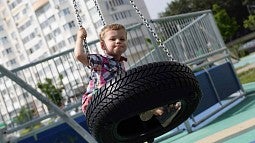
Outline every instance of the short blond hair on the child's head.
<svg viewBox="0 0 255 143">
<path fill-rule="evenodd" d="M 121 25 L 121 24 L 109 24 L 109 25 L 104 26 L 101 29 L 101 32 L 99 34 L 100 41 L 102 41 L 104 39 L 105 33 L 109 30 L 124 30 L 126 32 L 126 37 L 127 37 L 127 31 L 126 31 L 126 28 L 123 25 Z"/>
</svg>

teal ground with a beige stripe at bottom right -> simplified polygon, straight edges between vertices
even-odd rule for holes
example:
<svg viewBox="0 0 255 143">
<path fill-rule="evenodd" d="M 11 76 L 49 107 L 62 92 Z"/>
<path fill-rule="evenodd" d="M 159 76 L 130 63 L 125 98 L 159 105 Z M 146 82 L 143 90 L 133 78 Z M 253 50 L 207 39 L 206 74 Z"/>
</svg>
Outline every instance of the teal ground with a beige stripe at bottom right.
<svg viewBox="0 0 255 143">
<path fill-rule="evenodd" d="M 246 98 L 209 125 L 160 143 L 255 143 L 255 83 L 245 84 L 244 89 Z"/>
</svg>

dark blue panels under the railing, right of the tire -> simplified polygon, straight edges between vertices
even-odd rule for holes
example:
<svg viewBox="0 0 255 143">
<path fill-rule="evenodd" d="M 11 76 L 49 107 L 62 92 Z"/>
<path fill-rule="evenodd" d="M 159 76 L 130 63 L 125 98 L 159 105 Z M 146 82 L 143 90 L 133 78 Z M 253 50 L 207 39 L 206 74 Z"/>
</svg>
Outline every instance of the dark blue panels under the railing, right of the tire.
<svg viewBox="0 0 255 143">
<path fill-rule="evenodd" d="M 213 85 L 221 100 L 241 89 L 241 85 L 238 82 L 231 63 L 226 62 L 222 65 L 208 68 L 207 71 L 210 74 L 212 83 L 210 82 L 208 73 L 204 70 L 195 73 L 202 91 L 202 100 L 194 112 L 194 115 L 205 111 L 212 105 L 219 102 L 213 89 Z"/>
</svg>

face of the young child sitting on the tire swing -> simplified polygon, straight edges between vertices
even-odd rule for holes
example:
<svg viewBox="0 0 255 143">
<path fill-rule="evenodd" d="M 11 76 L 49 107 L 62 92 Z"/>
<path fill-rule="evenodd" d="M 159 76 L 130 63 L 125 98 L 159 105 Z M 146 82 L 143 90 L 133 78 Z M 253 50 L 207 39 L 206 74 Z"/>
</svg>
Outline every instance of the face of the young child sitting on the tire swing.
<svg viewBox="0 0 255 143">
<path fill-rule="evenodd" d="M 105 32 L 104 39 L 101 41 L 101 48 L 106 54 L 113 56 L 117 60 L 127 49 L 126 32 L 120 30 L 108 30 Z"/>
</svg>

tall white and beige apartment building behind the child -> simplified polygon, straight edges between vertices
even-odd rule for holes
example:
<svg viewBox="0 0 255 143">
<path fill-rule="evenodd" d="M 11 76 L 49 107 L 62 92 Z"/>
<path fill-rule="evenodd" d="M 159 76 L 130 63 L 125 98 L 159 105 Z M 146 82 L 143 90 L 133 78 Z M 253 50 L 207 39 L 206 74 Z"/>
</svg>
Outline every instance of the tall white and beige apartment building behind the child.
<svg viewBox="0 0 255 143">
<path fill-rule="evenodd" d="M 15 69 L 74 48 L 78 24 L 72 2 L 71 0 L 0 0 L 0 64 L 8 69 Z M 89 35 L 87 41 L 98 39 L 103 23 L 93 0 L 76 2 L 82 25 Z M 149 18 L 144 1 L 135 2 L 143 15 Z M 98 4 L 106 23 L 122 23 L 128 27 L 140 21 L 129 0 L 98 0 Z M 96 51 L 100 52 L 99 49 Z M 135 52 L 137 50 L 133 52 L 131 50 L 129 54 L 136 54 Z M 48 68 L 47 66 L 49 65 L 38 68 L 33 76 L 25 73 L 27 82 L 38 79 L 40 72 L 44 70 L 43 68 Z M 22 97 L 26 93 L 9 87 L 11 82 L 8 79 L 0 79 L 0 85 L 4 85 L 0 86 L 3 116 L 0 120 L 15 116 L 16 110 L 25 104 L 29 104 L 30 108 L 44 110 L 43 105 L 32 97 L 25 101 Z"/>
</svg>

